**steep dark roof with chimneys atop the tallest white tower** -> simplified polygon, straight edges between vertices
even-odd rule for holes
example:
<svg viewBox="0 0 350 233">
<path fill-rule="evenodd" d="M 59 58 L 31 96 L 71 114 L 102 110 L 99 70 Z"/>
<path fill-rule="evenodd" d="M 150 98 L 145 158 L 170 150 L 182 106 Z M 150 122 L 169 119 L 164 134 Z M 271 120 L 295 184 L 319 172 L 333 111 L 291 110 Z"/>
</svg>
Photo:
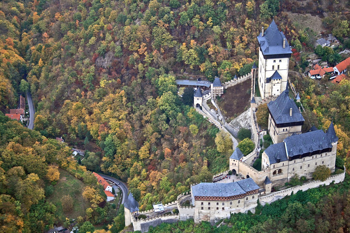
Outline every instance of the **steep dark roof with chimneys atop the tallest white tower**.
<svg viewBox="0 0 350 233">
<path fill-rule="evenodd" d="M 292 53 L 285 35 L 278 30 L 274 20 L 272 20 L 270 26 L 265 30 L 264 35 L 261 35 L 260 32 L 257 38 L 263 55 Z M 286 46 L 284 49 L 283 39 L 286 39 Z"/>
</svg>

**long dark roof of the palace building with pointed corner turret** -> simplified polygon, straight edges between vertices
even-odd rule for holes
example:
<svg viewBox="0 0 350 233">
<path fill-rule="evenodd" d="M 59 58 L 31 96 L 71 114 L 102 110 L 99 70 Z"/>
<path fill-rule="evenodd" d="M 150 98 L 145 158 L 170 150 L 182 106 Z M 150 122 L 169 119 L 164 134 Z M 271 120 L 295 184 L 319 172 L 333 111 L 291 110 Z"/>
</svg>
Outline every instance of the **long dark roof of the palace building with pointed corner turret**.
<svg viewBox="0 0 350 233">
<path fill-rule="evenodd" d="M 312 128 L 311 128 L 312 129 Z M 329 125 L 327 133 L 323 130 L 314 130 L 307 133 L 296 134 L 287 137 L 281 143 L 273 144 L 265 150 L 270 164 L 276 163 L 277 159 L 287 160 L 286 150 L 289 157 L 320 151 L 331 148 L 332 143 L 338 141 L 335 134 L 333 122 Z"/>
</svg>

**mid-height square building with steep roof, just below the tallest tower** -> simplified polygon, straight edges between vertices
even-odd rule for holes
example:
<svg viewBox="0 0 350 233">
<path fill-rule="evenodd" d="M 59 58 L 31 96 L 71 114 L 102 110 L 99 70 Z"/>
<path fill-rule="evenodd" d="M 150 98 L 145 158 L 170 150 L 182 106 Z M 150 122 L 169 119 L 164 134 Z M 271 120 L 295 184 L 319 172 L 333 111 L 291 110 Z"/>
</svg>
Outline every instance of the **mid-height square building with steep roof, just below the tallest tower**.
<svg viewBox="0 0 350 233">
<path fill-rule="evenodd" d="M 292 134 L 300 134 L 304 118 L 293 100 L 289 99 L 289 88 L 274 101 L 267 104 L 268 131 L 273 143 L 280 143 Z"/>
</svg>

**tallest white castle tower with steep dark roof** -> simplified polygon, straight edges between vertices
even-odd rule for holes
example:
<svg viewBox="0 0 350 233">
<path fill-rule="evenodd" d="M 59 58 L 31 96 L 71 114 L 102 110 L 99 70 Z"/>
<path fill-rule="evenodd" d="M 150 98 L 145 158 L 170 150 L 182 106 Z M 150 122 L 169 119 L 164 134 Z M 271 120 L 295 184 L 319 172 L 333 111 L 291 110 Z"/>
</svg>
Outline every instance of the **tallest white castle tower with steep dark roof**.
<svg viewBox="0 0 350 233">
<path fill-rule="evenodd" d="M 289 58 L 292 51 L 288 41 L 274 20 L 257 37 L 259 42 L 258 85 L 261 98 L 278 96 L 288 83 Z"/>
</svg>

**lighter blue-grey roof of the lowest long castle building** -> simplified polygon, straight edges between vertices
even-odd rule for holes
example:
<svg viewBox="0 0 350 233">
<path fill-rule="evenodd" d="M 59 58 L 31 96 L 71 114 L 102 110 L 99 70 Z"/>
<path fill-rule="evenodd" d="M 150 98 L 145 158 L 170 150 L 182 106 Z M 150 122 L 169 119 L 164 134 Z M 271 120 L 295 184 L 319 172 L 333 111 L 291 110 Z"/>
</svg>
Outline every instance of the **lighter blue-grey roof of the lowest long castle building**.
<svg viewBox="0 0 350 233">
<path fill-rule="evenodd" d="M 255 189 L 259 189 L 259 186 L 252 178 L 248 178 L 231 183 L 199 183 L 192 186 L 192 194 L 200 197 L 231 197 Z"/>
</svg>

